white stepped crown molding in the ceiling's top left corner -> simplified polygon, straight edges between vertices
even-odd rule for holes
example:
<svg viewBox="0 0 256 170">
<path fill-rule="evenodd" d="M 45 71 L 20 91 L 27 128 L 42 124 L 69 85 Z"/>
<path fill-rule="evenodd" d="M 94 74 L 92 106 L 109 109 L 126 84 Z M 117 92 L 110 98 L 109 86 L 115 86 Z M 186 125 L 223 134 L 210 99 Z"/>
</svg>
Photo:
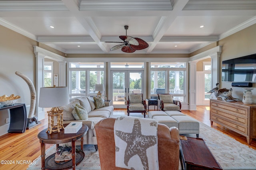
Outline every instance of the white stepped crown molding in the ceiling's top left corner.
<svg viewBox="0 0 256 170">
<path fill-rule="evenodd" d="M 68 8 L 59 0 L 43 1 L 0 1 L 0 11 L 67 11 Z"/>
</svg>

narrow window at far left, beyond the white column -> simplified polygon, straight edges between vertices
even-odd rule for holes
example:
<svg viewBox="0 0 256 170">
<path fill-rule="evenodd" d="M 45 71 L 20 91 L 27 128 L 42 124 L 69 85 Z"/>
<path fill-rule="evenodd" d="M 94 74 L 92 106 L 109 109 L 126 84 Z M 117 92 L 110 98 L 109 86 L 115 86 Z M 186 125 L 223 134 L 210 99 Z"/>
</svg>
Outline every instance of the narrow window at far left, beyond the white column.
<svg viewBox="0 0 256 170">
<path fill-rule="evenodd" d="M 44 62 L 44 87 L 52 87 L 53 62 Z"/>
</svg>

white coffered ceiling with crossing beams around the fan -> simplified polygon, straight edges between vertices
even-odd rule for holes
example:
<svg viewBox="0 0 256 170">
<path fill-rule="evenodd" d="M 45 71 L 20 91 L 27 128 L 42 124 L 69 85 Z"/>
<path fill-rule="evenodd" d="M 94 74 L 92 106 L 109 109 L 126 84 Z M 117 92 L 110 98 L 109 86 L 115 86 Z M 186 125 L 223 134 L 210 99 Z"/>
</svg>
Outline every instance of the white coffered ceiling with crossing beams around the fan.
<svg viewBox="0 0 256 170">
<path fill-rule="evenodd" d="M 134 53 L 192 53 L 255 23 L 256 0 L 0 0 L 1 25 L 67 54 L 124 53 L 105 43 L 124 25 Z"/>
</svg>

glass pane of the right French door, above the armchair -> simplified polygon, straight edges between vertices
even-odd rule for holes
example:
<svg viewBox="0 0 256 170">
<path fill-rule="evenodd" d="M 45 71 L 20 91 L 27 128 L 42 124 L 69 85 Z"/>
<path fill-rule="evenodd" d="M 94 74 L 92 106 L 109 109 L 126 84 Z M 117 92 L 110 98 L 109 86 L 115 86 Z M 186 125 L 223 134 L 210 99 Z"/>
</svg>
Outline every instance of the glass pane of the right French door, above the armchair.
<svg viewBox="0 0 256 170">
<path fill-rule="evenodd" d="M 142 73 L 130 72 L 129 93 L 141 93 L 142 90 Z"/>
</svg>

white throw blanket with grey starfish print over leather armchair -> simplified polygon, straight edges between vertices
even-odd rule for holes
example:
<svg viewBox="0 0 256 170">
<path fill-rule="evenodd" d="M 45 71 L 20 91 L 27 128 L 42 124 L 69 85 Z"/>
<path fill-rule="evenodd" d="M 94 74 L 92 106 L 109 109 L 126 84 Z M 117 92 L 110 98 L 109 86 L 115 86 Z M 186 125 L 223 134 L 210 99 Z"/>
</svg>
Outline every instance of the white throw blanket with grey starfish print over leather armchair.
<svg viewBox="0 0 256 170">
<path fill-rule="evenodd" d="M 116 167 L 158 170 L 157 122 L 140 117 L 117 117 L 114 124 Z"/>
</svg>

